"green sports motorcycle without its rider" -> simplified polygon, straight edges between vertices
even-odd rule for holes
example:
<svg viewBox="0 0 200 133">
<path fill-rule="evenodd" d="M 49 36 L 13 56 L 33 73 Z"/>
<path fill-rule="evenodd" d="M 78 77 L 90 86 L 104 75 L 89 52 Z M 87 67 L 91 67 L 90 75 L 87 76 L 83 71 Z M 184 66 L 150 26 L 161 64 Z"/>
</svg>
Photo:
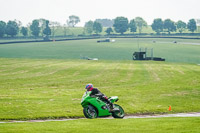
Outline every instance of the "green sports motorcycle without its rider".
<svg viewBox="0 0 200 133">
<path fill-rule="evenodd" d="M 123 118 L 124 110 L 121 106 L 114 104 L 114 109 L 111 111 L 110 105 L 103 102 L 99 97 L 91 97 L 91 91 L 86 91 L 82 97 L 81 105 L 86 118 L 97 118 L 105 116 L 113 116 L 114 118 Z M 111 103 L 117 102 L 117 96 L 109 97 Z"/>
</svg>

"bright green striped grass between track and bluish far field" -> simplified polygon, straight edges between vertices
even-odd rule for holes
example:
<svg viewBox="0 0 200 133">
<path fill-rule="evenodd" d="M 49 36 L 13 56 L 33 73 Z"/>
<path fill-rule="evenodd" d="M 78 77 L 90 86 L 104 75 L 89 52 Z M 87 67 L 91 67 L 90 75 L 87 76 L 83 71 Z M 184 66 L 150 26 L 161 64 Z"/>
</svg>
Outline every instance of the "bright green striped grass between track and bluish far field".
<svg viewBox="0 0 200 133">
<path fill-rule="evenodd" d="M 0 120 L 83 117 L 87 83 L 126 114 L 200 111 L 196 64 L 0 58 Z"/>
</svg>

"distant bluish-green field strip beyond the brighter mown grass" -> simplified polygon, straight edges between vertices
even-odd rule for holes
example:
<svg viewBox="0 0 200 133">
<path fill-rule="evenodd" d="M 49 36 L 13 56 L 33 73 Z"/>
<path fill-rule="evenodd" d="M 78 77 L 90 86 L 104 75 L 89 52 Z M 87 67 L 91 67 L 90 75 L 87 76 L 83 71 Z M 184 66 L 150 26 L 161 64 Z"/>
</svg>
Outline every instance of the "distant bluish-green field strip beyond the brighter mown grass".
<svg viewBox="0 0 200 133">
<path fill-rule="evenodd" d="M 154 50 L 155 57 L 165 58 L 168 62 L 200 64 L 200 44 L 195 39 L 116 39 L 115 43 L 97 43 L 96 39 L 20 43 L 0 45 L 0 57 L 3 58 L 39 58 L 39 59 L 80 59 L 80 56 L 99 58 L 100 60 L 132 60 L 132 54 L 139 47 Z M 153 43 L 156 41 L 156 43 Z M 148 56 L 151 56 L 150 50 Z"/>
</svg>

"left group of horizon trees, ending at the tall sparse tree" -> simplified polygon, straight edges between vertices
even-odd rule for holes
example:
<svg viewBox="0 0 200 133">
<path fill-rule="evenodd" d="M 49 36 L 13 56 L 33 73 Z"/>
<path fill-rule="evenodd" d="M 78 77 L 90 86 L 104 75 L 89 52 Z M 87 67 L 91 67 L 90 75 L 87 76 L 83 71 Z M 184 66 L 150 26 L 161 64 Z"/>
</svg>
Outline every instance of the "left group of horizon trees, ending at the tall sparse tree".
<svg viewBox="0 0 200 133">
<path fill-rule="evenodd" d="M 66 35 L 67 27 L 75 27 L 75 25 L 79 22 L 79 17 L 75 15 L 69 16 L 69 19 L 63 26 L 59 22 L 49 21 L 46 19 L 35 19 L 26 27 L 22 26 L 22 23 L 17 20 L 10 20 L 7 23 L 0 20 L 0 38 L 4 37 L 5 35 L 15 37 L 19 32 L 24 37 L 27 37 L 28 34 L 31 34 L 35 38 L 39 37 L 40 35 L 44 37 L 44 39 L 49 39 L 50 35 L 54 38 L 59 28 L 63 28 L 64 35 Z"/>
</svg>

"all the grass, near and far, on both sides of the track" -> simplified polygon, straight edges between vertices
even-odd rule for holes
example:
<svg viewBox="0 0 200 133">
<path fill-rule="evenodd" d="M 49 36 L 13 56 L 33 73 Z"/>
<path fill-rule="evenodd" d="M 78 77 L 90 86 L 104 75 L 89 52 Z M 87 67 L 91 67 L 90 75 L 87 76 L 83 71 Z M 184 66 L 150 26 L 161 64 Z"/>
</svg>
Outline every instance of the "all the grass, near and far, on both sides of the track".
<svg viewBox="0 0 200 133">
<path fill-rule="evenodd" d="M 96 41 L 0 45 L 0 121 L 84 117 L 87 83 L 119 96 L 126 114 L 200 111 L 199 40 Z M 166 62 L 132 61 L 138 44 Z M 1 123 L 0 132 L 199 132 L 199 124 L 200 118 L 79 119 Z"/>
</svg>

